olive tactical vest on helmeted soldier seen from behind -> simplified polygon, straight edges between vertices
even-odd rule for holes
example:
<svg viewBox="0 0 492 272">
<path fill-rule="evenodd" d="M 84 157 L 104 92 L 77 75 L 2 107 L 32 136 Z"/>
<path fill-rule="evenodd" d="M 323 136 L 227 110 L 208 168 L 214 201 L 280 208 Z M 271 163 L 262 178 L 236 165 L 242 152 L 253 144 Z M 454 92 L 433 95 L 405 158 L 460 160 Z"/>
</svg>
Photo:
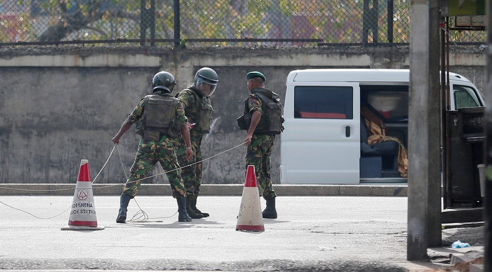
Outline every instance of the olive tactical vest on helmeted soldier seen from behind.
<svg viewBox="0 0 492 272">
<path fill-rule="evenodd" d="M 144 140 L 150 141 L 160 141 L 161 134 L 178 137 L 175 127 L 178 105 L 179 100 L 169 93 L 146 95 L 142 117 L 136 124 L 136 132 L 142 135 Z"/>
</svg>

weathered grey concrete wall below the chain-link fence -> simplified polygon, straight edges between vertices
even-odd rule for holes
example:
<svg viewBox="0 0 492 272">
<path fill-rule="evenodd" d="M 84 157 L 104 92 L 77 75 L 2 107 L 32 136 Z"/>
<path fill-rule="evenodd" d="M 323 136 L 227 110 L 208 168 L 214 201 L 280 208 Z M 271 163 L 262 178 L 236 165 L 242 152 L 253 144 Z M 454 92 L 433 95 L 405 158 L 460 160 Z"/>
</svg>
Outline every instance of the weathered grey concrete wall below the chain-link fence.
<svg viewBox="0 0 492 272">
<path fill-rule="evenodd" d="M 485 55 L 451 54 L 451 71 L 484 85 Z M 213 131 L 202 143 L 204 158 L 239 145 L 236 125 L 248 95 L 245 74 L 260 70 L 266 86 L 285 96 L 289 71 L 299 68 L 408 68 L 407 47 L 333 48 L 83 48 L 0 49 L 0 183 L 74 183 L 80 159 L 94 179 L 114 145 L 111 138 L 139 98 L 149 93 L 159 70 L 172 72 L 178 92 L 203 66 L 215 69 Z M 122 183 L 137 149 L 129 130 L 96 183 Z M 118 153 L 119 151 L 119 153 Z M 123 168 L 120 163 L 120 157 Z M 242 183 L 242 147 L 204 162 L 203 183 Z M 329 156 L 329 155 L 328 155 Z M 280 181 L 280 141 L 272 155 L 272 177 Z M 124 172 L 125 171 L 125 172 Z M 159 174 L 154 167 L 151 174 Z M 167 183 L 165 176 L 145 183 Z"/>
</svg>

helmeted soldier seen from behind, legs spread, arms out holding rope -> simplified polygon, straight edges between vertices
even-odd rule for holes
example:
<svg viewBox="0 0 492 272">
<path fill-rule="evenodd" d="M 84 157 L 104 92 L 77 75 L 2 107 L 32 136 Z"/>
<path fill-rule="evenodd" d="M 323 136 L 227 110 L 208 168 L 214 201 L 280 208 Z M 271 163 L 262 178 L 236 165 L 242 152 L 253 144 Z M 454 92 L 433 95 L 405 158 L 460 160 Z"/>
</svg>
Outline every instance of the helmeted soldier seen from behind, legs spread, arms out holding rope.
<svg viewBox="0 0 492 272">
<path fill-rule="evenodd" d="M 180 134 L 184 145 L 191 147 L 190 131 L 182 104 L 171 95 L 176 80 L 165 71 L 158 72 L 152 78 L 152 94 L 140 99 L 135 109 L 121 125 L 118 133 L 113 137 L 113 143 L 119 144 L 120 138 L 136 124 L 136 132 L 142 138 L 138 146 L 135 161 L 130 169 L 130 176 L 120 197 L 120 210 L 117 223 L 126 222 L 126 212 L 130 199 L 135 197 L 141 184 L 141 179 L 157 162 L 166 172 L 179 168 L 175 154 L 175 142 Z M 193 156 L 191 149 L 186 150 L 185 160 Z M 178 202 L 178 221 L 191 221 L 186 213 L 186 193 L 183 179 L 178 171 L 167 174 L 173 197 Z"/>
</svg>

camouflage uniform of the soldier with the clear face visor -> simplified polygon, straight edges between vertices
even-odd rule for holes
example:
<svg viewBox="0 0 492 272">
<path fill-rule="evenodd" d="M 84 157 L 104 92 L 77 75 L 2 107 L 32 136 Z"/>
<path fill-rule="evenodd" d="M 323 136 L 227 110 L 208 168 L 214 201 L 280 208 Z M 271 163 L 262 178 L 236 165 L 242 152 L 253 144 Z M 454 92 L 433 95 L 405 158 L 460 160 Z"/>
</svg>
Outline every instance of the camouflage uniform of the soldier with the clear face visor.
<svg viewBox="0 0 492 272">
<path fill-rule="evenodd" d="M 185 114 L 190 123 L 197 123 L 200 115 L 200 101 L 197 101 L 197 96 L 194 94 L 194 84 L 189 84 L 186 89 L 182 90 L 178 96 L 185 108 Z M 199 96 L 198 96 L 199 97 Z M 206 99 L 205 102 L 210 104 L 209 97 L 201 97 L 201 99 Z M 186 145 L 183 139 L 180 139 L 176 143 L 176 155 L 178 157 L 178 162 L 181 167 L 199 162 L 202 160 L 202 151 L 200 145 L 202 144 L 202 138 L 205 134 L 204 131 L 199 131 L 196 129 L 198 125 L 195 125 L 190 129 L 190 141 L 193 150 L 193 158 L 190 161 L 186 160 L 185 152 Z M 202 180 L 202 163 L 198 163 L 189 167 L 181 169 L 181 176 L 183 177 L 183 182 L 186 188 L 186 194 L 194 195 L 200 192 L 200 184 Z"/>
</svg>

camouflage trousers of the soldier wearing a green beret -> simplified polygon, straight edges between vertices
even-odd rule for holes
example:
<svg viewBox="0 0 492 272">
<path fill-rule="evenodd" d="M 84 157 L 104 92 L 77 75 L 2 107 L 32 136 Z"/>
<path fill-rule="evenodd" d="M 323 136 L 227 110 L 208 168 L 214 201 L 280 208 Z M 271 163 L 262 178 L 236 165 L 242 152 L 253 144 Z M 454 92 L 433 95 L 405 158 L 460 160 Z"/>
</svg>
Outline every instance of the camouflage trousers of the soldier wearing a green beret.
<svg viewBox="0 0 492 272">
<path fill-rule="evenodd" d="M 273 191 L 272 177 L 270 176 L 270 156 L 272 155 L 275 135 L 253 134 L 251 144 L 246 151 L 246 170 L 248 165 L 255 166 L 258 185 L 263 188 L 263 198 L 277 196 Z"/>
</svg>

